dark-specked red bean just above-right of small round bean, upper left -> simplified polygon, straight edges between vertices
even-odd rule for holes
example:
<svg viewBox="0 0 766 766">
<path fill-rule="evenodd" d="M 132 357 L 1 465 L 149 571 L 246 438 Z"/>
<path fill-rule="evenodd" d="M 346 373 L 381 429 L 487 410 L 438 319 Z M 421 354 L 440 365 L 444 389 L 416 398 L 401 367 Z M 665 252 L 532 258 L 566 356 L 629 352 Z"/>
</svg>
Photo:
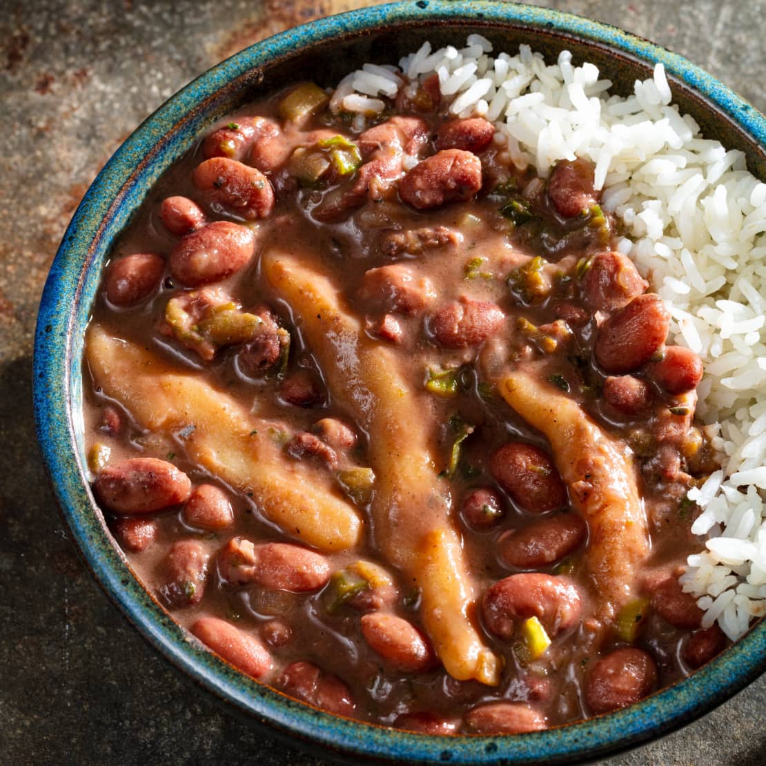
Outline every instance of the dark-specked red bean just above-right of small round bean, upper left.
<svg viewBox="0 0 766 766">
<path fill-rule="evenodd" d="M 194 169 L 191 180 L 211 201 L 243 218 L 266 218 L 273 209 L 274 190 L 269 179 L 236 159 L 206 159 Z"/>
</svg>

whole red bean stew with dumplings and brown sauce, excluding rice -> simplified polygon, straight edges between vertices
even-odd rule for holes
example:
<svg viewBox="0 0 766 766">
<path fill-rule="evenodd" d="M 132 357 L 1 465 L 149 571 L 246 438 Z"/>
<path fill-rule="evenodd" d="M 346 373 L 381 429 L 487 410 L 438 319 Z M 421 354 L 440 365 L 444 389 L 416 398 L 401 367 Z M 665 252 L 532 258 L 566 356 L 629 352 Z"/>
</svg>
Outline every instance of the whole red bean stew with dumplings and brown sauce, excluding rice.
<svg viewBox="0 0 766 766">
<path fill-rule="evenodd" d="M 433 79 L 361 132 L 328 101 L 226 118 L 113 251 L 84 416 L 133 570 L 241 672 L 413 732 L 531 732 L 702 666 L 702 363 L 593 166 L 520 171 Z"/>
</svg>

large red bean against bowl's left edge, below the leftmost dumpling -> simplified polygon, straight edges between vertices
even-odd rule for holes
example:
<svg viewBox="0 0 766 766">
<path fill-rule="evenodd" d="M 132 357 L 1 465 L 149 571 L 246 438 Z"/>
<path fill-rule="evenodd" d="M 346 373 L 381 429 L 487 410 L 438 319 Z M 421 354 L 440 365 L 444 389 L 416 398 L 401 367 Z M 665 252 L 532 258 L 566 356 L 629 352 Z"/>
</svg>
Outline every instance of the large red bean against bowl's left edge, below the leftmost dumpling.
<svg viewBox="0 0 766 766">
<path fill-rule="evenodd" d="M 132 457 L 103 468 L 93 492 L 102 506 L 115 513 L 151 513 L 184 502 L 191 481 L 166 460 Z"/>
</svg>

